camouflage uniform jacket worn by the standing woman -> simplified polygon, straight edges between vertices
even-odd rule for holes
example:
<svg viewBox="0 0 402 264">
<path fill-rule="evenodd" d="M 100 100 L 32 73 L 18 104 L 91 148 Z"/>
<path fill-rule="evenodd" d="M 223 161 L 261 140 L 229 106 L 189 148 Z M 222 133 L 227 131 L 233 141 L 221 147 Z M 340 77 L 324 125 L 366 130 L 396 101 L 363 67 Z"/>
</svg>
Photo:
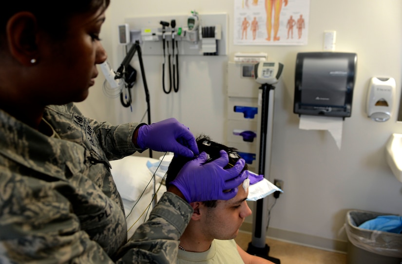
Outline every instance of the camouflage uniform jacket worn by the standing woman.
<svg viewBox="0 0 402 264">
<path fill-rule="evenodd" d="M 174 263 L 192 209 L 172 193 L 127 242 L 108 160 L 139 151 L 138 124 L 99 123 L 73 104 L 43 119 L 58 137 L 0 110 L 0 263 Z"/>
</svg>

